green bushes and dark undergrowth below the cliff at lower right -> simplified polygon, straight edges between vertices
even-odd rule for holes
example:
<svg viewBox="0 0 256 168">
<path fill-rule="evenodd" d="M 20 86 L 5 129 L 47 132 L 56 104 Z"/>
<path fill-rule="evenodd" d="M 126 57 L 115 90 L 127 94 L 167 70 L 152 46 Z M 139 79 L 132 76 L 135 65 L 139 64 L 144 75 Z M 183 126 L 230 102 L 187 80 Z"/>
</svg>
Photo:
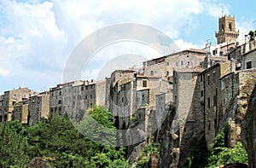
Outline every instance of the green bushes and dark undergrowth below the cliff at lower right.
<svg viewBox="0 0 256 168">
<path fill-rule="evenodd" d="M 211 153 L 207 151 L 207 143 L 204 138 L 195 144 L 185 167 L 214 168 L 231 162 L 247 163 L 247 151 L 241 142 L 237 142 L 235 148 L 228 147 L 227 126 L 225 126 L 215 137 Z"/>
</svg>

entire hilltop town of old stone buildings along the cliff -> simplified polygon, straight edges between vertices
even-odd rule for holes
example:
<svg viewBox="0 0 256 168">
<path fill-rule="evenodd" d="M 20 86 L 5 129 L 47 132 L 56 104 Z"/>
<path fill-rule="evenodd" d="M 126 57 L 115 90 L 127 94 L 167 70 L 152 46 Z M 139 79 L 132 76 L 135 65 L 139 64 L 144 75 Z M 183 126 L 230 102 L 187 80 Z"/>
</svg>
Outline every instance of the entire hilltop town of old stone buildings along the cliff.
<svg viewBox="0 0 256 168">
<path fill-rule="evenodd" d="M 32 126 L 50 113 L 79 121 L 90 107 L 106 107 L 117 129 L 143 124 L 140 129 L 147 135 L 156 132 L 155 138 L 168 147 L 168 152 L 160 151 L 160 167 L 182 167 L 201 136 L 211 150 L 225 125 L 230 148 L 236 142 L 247 144 L 242 126 L 249 130 L 246 115 L 256 90 L 256 40 L 246 37 L 238 43 L 239 33 L 235 16 L 224 15 L 218 19 L 216 45 L 144 61 L 140 69 L 116 70 L 102 81 L 72 81 L 42 93 L 28 88 L 7 90 L 0 96 L 0 122 L 17 119 Z M 168 113 L 173 118 L 166 127 Z M 134 118 L 137 125 L 132 123 Z M 131 137 L 123 143 L 140 146 Z M 137 161 L 134 148 L 131 165 Z M 249 162 L 255 159 L 248 156 Z"/>
</svg>

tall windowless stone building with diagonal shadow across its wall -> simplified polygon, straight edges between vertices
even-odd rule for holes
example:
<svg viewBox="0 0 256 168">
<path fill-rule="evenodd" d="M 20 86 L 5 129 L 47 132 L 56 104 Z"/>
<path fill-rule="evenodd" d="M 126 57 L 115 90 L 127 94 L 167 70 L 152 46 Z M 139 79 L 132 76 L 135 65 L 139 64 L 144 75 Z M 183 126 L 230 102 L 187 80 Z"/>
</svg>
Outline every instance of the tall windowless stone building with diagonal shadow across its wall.
<svg viewBox="0 0 256 168">
<path fill-rule="evenodd" d="M 175 118 L 171 134 L 175 144 L 172 150 L 172 166 L 182 166 L 189 156 L 190 145 L 204 132 L 204 103 L 201 93 L 203 69 L 183 68 L 173 72 L 173 100 Z"/>
</svg>

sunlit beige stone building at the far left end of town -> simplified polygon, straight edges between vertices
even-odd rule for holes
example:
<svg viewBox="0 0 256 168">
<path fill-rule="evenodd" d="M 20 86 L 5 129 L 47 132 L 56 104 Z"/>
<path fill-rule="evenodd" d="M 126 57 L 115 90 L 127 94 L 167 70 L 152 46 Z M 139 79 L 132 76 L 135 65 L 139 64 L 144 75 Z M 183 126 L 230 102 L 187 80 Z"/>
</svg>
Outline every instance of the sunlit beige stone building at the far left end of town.
<svg viewBox="0 0 256 168">
<path fill-rule="evenodd" d="M 37 93 L 27 88 L 5 91 L 3 96 L 0 96 L 0 122 L 11 120 L 16 103 L 28 100 L 35 94 Z"/>
</svg>

